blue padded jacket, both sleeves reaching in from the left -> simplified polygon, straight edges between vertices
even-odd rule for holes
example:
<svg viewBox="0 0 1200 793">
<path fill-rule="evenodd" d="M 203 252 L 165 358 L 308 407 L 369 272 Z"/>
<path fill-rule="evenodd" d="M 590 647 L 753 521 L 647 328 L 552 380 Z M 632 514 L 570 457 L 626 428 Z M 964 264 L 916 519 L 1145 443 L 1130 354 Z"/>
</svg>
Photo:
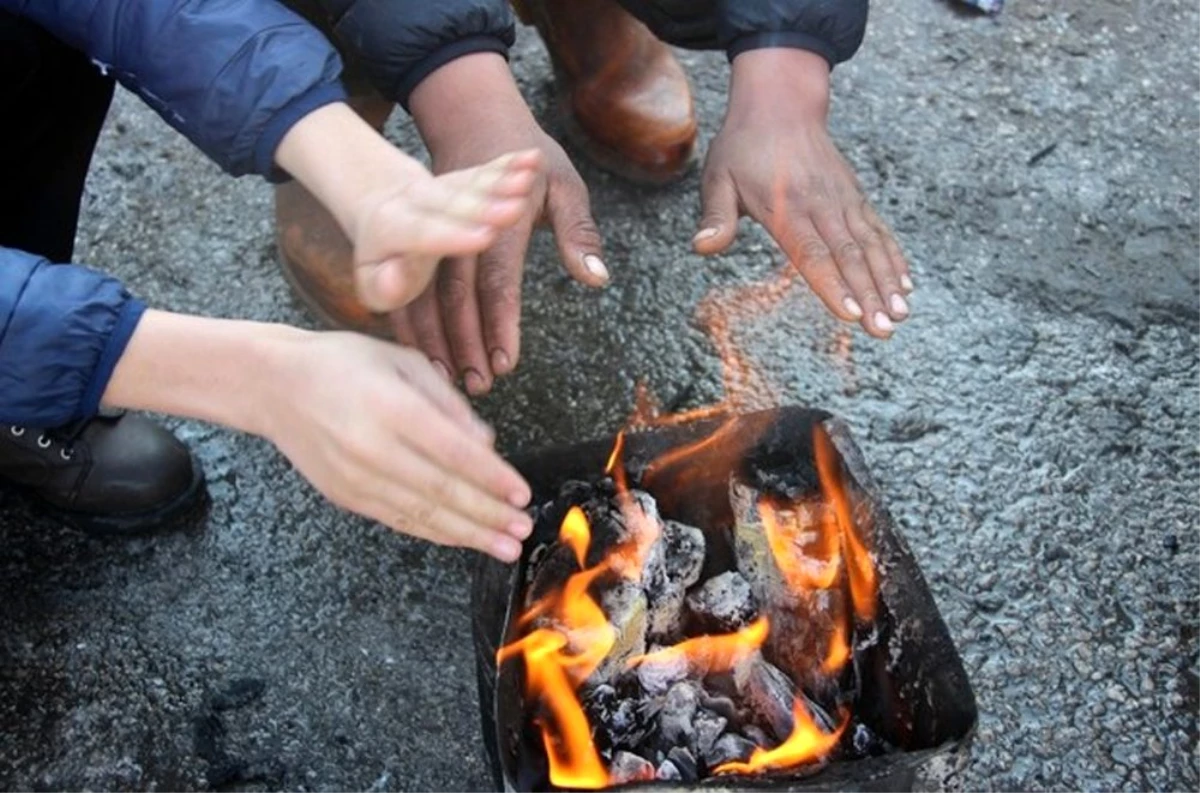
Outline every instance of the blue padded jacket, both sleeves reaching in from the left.
<svg viewBox="0 0 1200 793">
<path fill-rule="evenodd" d="M 275 0 L 0 0 L 0 10 L 86 53 L 230 174 L 271 174 L 292 125 L 344 98 L 332 46 Z M 92 415 L 144 311 L 113 278 L 0 247 L 0 422 Z"/>
</svg>

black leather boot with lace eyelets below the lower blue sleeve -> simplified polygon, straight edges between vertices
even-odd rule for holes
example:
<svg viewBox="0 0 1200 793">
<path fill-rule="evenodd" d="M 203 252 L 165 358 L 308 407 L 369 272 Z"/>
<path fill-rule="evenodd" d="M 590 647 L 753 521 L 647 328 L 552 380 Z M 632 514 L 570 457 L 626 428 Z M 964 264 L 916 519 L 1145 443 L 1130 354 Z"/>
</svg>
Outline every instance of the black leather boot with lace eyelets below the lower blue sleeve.
<svg viewBox="0 0 1200 793">
<path fill-rule="evenodd" d="M 0 427 L 0 481 L 92 535 L 142 534 L 199 506 L 204 475 L 175 435 L 104 413 L 58 429 Z"/>
</svg>

